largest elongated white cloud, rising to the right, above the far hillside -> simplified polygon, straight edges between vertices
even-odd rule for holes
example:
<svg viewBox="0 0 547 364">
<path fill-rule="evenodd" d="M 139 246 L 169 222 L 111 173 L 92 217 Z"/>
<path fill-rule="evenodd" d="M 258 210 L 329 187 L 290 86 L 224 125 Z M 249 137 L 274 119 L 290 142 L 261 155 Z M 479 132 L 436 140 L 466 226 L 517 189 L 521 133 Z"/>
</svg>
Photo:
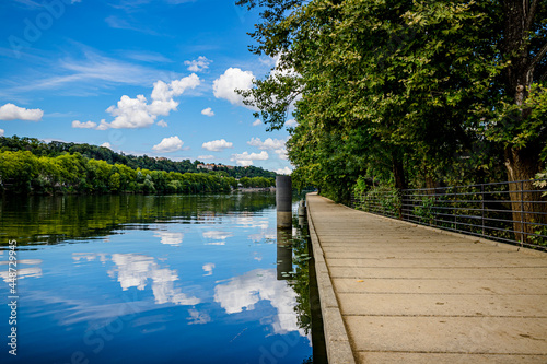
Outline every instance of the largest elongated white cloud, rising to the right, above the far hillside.
<svg viewBox="0 0 547 364">
<path fill-rule="evenodd" d="M 97 130 L 114 129 L 136 129 L 146 128 L 153 125 L 158 116 L 168 116 L 171 111 L 176 110 L 178 103 L 173 97 L 182 95 L 188 89 L 195 89 L 200 84 L 199 78 L 193 73 L 181 80 L 165 83 L 161 80 L 154 82 L 152 90 L 152 103 L 148 103 L 144 95 L 137 95 L 131 98 L 127 95 L 121 96 L 116 106 L 106 109 L 115 117 L 114 121 L 101 121 Z M 166 122 L 159 121 L 164 127 Z"/>
</svg>

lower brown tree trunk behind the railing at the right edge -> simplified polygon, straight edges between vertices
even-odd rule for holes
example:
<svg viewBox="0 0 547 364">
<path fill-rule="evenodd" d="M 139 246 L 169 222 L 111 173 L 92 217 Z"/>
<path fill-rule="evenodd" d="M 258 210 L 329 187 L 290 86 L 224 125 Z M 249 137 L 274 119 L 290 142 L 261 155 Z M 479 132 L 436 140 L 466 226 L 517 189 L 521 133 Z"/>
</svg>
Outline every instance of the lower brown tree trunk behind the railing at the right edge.
<svg viewBox="0 0 547 364">
<path fill-rule="evenodd" d="M 505 148 L 509 196 L 513 216 L 514 238 L 521 243 L 529 242 L 529 234 L 537 230 L 537 223 L 547 223 L 547 203 L 542 193 L 535 191 L 531 181 L 539 172 L 539 152 L 535 148 Z"/>
</svg>

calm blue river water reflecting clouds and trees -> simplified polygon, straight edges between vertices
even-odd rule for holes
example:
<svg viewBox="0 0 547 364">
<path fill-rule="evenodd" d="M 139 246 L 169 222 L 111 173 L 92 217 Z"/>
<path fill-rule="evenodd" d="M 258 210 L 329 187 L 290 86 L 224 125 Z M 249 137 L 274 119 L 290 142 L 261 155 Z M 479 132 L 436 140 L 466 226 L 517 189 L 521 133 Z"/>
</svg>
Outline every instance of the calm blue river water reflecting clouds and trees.
<svg viewBox="0 0 547 364">
<path fill-rule="evenodd" d="M 312 355 L 306 265 L 291 266 L 292 254 L 305 261 L 306 251 L 298 239 L 292 253 L 277 244 L 286 237 L 272 193 L 4 199 L 0 213 L 2 303 L 9 239 L 19 259 L 18 356 L 8 353 L 2 304 L 2 363 Z"/>
</svg>

